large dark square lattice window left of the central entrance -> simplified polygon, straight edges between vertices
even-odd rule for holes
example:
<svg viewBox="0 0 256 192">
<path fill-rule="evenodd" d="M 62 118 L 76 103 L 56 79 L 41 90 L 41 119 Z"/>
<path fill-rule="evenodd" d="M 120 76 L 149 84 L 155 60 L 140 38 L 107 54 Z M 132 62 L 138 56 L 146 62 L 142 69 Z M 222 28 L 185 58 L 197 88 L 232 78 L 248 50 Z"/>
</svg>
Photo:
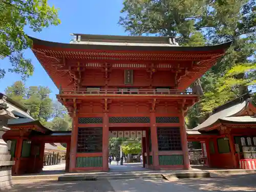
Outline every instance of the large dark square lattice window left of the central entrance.
<svg viewBox="0 0 256 192">
<path fill-rule="evenodd" d="M 102 152 L 102 127 L 78 127 L 77 153 Z"/>
</svg>

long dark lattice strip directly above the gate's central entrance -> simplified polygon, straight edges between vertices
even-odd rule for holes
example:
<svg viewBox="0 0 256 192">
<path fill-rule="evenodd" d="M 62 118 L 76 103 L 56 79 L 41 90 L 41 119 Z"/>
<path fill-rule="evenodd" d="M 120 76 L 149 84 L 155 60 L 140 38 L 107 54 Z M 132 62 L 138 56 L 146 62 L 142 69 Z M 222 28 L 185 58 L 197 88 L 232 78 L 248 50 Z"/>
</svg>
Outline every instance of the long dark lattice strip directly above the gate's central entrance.
<svg viewBox="0 0 256 192">
<path fill-rule="evenodd" d="M 150 123 L 150 117 L 110 117 L 110 123 Z"/>
</svg>

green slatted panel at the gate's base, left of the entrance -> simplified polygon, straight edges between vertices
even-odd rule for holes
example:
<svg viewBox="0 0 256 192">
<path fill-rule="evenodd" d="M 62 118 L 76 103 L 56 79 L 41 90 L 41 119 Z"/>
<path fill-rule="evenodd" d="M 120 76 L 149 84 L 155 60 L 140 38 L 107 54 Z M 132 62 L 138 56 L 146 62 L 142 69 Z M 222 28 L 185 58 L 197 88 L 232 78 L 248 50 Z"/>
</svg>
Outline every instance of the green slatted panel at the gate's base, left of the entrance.
<svg viewBox="0 0 256 192">
<path fill-rule="evenodd" d="M 102 167 L 102 157 L 77 157 L 76 167 Z"/>
</svg>

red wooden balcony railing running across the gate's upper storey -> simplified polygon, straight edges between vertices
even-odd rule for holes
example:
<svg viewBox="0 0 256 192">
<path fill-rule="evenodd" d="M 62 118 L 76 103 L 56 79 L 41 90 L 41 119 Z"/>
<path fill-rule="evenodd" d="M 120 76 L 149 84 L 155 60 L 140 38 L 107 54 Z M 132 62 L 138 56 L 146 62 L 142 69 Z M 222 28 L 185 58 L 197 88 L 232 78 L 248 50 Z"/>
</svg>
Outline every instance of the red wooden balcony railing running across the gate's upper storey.
<svg viewBox="0 0 256 192">
<path fill-rule="evenodd" d="M 192 95 L 195 94 L 190 90 L 180 92 L 178 90 L 156 90 L 156 89 L 59 89 L 59 94 L 72 94 L 72 95 Z"/>
</svg>

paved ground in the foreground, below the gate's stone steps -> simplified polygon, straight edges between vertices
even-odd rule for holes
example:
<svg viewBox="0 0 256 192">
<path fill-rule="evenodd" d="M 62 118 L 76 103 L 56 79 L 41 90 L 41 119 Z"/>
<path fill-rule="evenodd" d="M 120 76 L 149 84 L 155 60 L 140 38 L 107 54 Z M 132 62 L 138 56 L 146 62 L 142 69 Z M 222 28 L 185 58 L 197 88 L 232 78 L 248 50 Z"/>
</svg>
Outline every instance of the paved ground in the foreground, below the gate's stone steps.
<svg viewBox="0 0 256 192">
<path fill-rule="evenodd" d="M 256 191 L 256 174 L 225 175 L 218 178 L 126 179 L 57 182 L 56 180 L 14 180 L 9 192 L 242 192 Z"/>
</svg>

